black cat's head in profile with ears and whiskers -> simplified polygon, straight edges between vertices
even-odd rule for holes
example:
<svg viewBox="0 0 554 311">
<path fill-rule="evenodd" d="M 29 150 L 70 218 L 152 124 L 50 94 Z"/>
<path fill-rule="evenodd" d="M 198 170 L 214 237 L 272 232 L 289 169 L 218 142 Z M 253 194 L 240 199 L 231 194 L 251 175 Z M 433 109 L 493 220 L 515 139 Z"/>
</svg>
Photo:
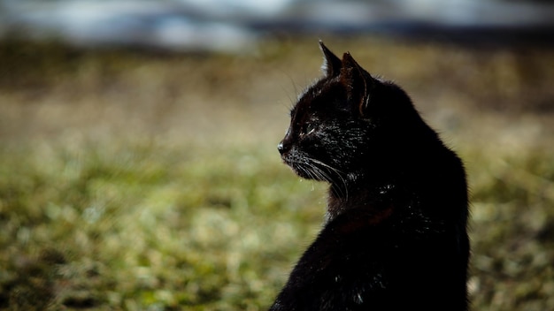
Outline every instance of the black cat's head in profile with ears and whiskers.
<svg viewBox="0 0 554 311">
<path fill-rule="evenodd" d="M 340 59 L 319 46 L 324 76 L 298 96 L 278 149 L 300 177 L 337 183 L 356 178 L 372 153 L 386 153 L 383 144 L 393 148 L 415 110 L 400 87 L 373 78 L 350 53 Z"/>
</svg>

